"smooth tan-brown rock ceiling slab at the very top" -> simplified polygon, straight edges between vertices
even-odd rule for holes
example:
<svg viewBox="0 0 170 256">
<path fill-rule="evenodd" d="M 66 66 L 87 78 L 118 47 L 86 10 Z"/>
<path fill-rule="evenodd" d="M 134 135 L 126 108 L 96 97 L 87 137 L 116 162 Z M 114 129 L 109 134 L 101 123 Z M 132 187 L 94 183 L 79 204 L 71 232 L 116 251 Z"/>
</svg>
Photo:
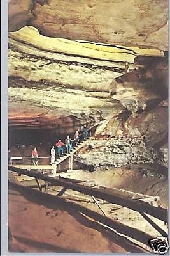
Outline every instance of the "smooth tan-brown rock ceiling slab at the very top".
<svg viewBox="0 0 170 256">
<path fill-rule="evenodd" d="M 9 29 L 111 45 L 168 49 L 167 0 L 10 0 Z"/>
</svg>

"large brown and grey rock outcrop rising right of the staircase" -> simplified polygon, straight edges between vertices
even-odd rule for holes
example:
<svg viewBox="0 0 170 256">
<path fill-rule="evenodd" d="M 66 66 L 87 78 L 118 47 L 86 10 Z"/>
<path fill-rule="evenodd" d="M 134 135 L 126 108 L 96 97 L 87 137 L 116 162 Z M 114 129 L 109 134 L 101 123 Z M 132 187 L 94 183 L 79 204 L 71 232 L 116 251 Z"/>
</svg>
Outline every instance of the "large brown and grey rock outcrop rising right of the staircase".
<svg viewBox="0 0 170 256">
<path fill-rule="evenodd" d="M 94 168 L 134 163 L 159 163 L 167 168 L 167 115 L 165 103 L 135 117 L 127 110 L 121 111 L 105 122 L 104 127 L 97 127 L 97 140 L 90 141 L 89 152 L 80 154 L 78 161 Z M 117 129 L 123 131 L 120 138 L 115 138 Z"/>
</svg>

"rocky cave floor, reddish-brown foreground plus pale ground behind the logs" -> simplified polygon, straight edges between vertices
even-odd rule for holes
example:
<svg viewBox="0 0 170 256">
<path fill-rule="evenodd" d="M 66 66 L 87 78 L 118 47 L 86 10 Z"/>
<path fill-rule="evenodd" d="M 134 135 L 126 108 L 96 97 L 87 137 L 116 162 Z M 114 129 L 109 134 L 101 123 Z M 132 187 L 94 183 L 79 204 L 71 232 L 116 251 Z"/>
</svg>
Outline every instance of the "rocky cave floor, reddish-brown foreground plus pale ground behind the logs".
<svg viewBox="0 0 170 256">
<path fill-rule="evenodd" d="M 168 205 L 168 180 L 163 175 L 154 173 L 151 166 L 134 165 L 133 167 L 110 168 L 108 170 L 97 170 L 95 172 L 72 170 L 67 173 L 61 173 L 60 175 L 71 179 L 86 180 L 89 184 L 97 186 L 125 189 L 144 195 L 159 196 L 160 202 L 158 202 L 158 204 L 160 207 L 167 208 Z M 15 176 L 15 179 L 16 178 L 17 176 Z M 33 183 L 33 180 L 27 180 L 20 184 L 32 186 Z M 50 186 L 48 193 L 56 195 L 60 189 L 62 189 L 60 186 Z M 142 230 L 150 234 L 150 236 L 156 237 L 160 235 L 141 214 L 123 208 L 120 205 L 109 204 L 104 200 L 96 198 L 97 203 L 103 210 L 103 212 L 101 212 L 90 196 L 69 189 L 62 195 L 62 198 L 67 199 L 69 202 L 80 204 L 99 214 L 103 214 L 104 212 L 104 214 L 111 219 L 119 221 L 129 227 Z M 11 252 L 42 252 L 43 250 L 43 252 L 106 253 L 141 252 L 143 250 L 134 246 L 131 242 L 128 242 L 125 237 L 118 236 L 118 234 L 115 234 L 113 231 L 106 232 L 103 226 L 91 219 L 87 219 L 85 216 L 81 216 L 76 210 L 70 207 L 64 207 L 62 205 L 57 205 L 57 207 L 55 205 L 55 207 L 53 207 L 53 204 L 50 204 L 49 207 L 45 202 L 41 202 L 39 198 L 36 199 L 35 196 L 32 197 L 24 191 L 23 193 L 19 193 L 16 189 L 12 188 L 12 186 L 9 191 L 9 200 L 9 224 L 15 238 L 10 243 Z M 20 218 L 18 218 L 18 216 Z M 163 221 L 157 220 L 151 216 L 149 217 L 162 228 L 164 232 L 167 232 L 167 225 Z M 30 223 L 29 220 L 32 220 L 31 224 L 27 225 L 27 223 Z M 46 230 L 46 232 L 42 232 L 42 228 Z M 77 236 L 79 232 L 81 236 Z M 130 237 L 127 235 L 127 238 L 130 239 L 132 243 L 137 243 L 138 246 L 144 246 Z M 101 243 L 101 241 L 103 241 L 103 243 Z M 88 247 L 87 244 L 89 244 Z"/>
</svg>

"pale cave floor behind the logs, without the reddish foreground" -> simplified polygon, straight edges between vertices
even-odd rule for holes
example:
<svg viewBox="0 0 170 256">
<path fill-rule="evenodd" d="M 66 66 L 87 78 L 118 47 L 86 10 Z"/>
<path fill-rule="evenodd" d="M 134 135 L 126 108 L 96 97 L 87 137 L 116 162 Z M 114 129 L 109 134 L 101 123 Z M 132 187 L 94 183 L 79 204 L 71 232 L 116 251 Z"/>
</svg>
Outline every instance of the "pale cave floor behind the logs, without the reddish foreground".
<svg viewBox="0 0 170 256">
<path fill-rule="evenodd" d="M 71 179 L 78 180 L 87 180 L 91 184 L 97 184 L 97 186 L 107 186 L 108 188 L 119 188 L 125 189 L 127 191 L 132 191 L 135 193 L 142 193 L 144 195 L 150 196 L 159 196 L 160 202 L 158 205 L 160 207 L 167 208 L 168 205 L 168 180 L 164 177 L 160 178 L 159 175 L 154 175 L 154 177 L 146 177 L 136 170 L 126 169 L 126 168 L 113 168 L 110 170 L 96 172 L 88 172 L 85 170 L 73 170 L 68 173 L 63 173 L 62 177 L 68 177 Z M 62 187 L 52 186 L 50 187 L 48 193 L 56 195 L 56 191 L 60 191 Z M 81 204 L 93 211 L 97 211 L 100 214 L 103 214 L 99 207 L 94 203 L 91 196 L 83 195 L 80 192 L 72 191 L 67 189 L 64 195 L 64 198 L 67 198 L 73 202 Z M 125 225 L 128 225 L 133 228 L 137 228 L 150 234 L 153 237 L 159 236 L 159 232 L 146 221 L 139 212 L 132 211 L 120 205 L 113 205 L 104 200 L 97 199 L 98 204 L 101 209 L 104 211 L 106 216 L 112 218 L 113 220 L 120 221 Z M 149 216 L 150 219 L 157 223 L 159 227 L 167 233 L 167 225 L 164 224 L 164 221 L 160 221 L 152 216 Z"/>
</svg>

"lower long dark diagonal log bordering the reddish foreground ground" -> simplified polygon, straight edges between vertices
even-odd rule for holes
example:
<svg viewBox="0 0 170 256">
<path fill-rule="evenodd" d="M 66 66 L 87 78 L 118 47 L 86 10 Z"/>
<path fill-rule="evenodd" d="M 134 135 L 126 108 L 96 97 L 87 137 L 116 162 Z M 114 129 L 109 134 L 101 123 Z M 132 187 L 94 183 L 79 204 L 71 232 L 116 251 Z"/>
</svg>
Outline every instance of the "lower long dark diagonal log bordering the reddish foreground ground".
<svg viewBox="0 0 170 256">
<path fill-rule="evenodd" d="M 102 223 L 110 228 L 113 228 L 120 234 L 124 234 L 127 237 L 131 237 L 136 241 L 146 244 L 146 246 L 148 246 L 148 241 L 150 239 L 153 239 L 152 236 L 146 234 L 141 230 L 124 225 L 119 221 L 112 220 L 111 218 L 108 218 L 97 212 L 87 209 L 82 205 L 76 204 L 74 202 L 67 202 L 66 199 L 60 198 L 59 196 L 42 193 L 36 189 L 27 188 L 18 184 L 14 184 L 13 182 L 9 182 L 9 188 L 17 189 L 17 191 L 20 191 L 20 193 L 22 193 L 24 196 L 29 195 L 29 200 L 30 196 L 32 196 L 33 202 L 39 202 L 39 200 L 41 200 L 41 204 L 48 207 L 52 207 L 53 204 L 53 209 L 59 209 L 59 205 L 61 205 L 62 207 L 67 207 L 67 211 L 72 212 L 72 209 L 75 209 L 76 211 L 81 212 L 86 216 L 89 216 L 93 220 L 99 221 L 99 223 Z"/>
</svg>

